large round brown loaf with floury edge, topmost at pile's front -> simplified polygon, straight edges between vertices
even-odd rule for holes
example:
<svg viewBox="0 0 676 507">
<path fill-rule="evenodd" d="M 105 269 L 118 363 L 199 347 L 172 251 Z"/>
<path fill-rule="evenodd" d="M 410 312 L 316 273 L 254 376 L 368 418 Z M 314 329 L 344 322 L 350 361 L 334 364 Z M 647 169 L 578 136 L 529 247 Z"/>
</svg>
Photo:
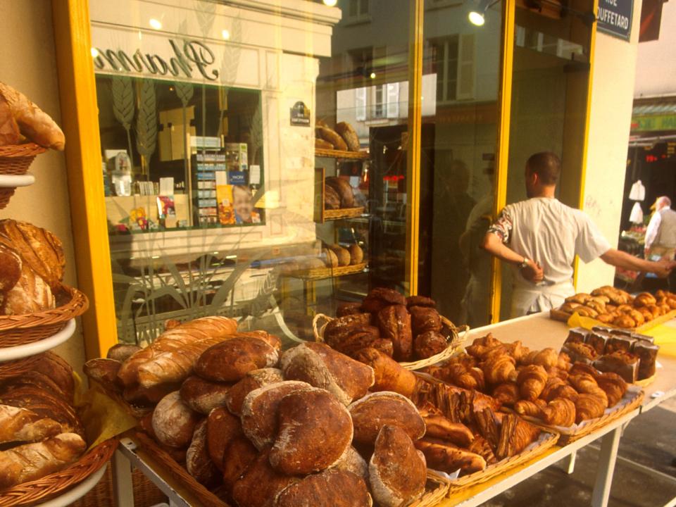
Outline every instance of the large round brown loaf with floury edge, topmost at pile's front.
<svg viewBox="0 0 676 507">
<path fill-rule="evenodd" d="M 325 389 L 287 394 L 279 403 L 278 420 L 270 464 L 287 475 L 306 475 L 335 465 L 352 442 L 349 412 Z"/>
</svg>

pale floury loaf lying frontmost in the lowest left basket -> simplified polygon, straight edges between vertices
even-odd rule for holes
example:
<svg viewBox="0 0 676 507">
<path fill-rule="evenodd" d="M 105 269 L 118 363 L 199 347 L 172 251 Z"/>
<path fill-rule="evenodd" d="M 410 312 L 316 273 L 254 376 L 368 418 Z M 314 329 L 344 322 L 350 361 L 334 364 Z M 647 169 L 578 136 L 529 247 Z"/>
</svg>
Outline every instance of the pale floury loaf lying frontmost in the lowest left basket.
<svg viewBox="0 0 676 507">
<path fill-rule="evenodd" d="M 87 444 L 80 435 L 61 433 L 43 442 L 0 451 L 0 489 L 39 479 L 77 461 Z"/>
</svg>

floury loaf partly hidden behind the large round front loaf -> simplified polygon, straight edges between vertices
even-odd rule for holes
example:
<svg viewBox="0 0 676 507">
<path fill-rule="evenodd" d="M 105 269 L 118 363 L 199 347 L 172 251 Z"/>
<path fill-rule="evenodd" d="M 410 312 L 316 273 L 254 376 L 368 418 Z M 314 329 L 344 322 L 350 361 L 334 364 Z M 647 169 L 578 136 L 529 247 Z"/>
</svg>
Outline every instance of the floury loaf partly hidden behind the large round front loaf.
<svg viewBox="0 0 676 507">
<path fill-rule="evenodd" d="M 277 436 L 277 408 L 287 394 L 310 389 L 306 382 L 289 380 L 268 384 L 251 391 L 242 403 L 242 430 L 256 449 L 272 444 Z"/>
</svg>

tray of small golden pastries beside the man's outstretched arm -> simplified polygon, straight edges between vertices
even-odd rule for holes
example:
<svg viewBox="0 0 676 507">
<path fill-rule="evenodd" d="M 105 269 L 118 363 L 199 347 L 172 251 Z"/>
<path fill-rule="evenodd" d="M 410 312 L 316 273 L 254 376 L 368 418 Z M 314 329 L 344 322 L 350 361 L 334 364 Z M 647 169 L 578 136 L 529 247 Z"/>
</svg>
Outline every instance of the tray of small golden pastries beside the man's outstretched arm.
<svg viewBox="0 0 676 507">
<path fill-rule="evenodd" d="M 655 295 L 641 292 L 637 296 L 615 287 L 594 289 L 592 294 L 575 294 L 551 310 L 555 320 L 567 322 L 573 313 L 592 318 L 599 325 L 630 330 L 648 330 L 676 316 L 676 294 L 658 290 Z"/>
</svg>

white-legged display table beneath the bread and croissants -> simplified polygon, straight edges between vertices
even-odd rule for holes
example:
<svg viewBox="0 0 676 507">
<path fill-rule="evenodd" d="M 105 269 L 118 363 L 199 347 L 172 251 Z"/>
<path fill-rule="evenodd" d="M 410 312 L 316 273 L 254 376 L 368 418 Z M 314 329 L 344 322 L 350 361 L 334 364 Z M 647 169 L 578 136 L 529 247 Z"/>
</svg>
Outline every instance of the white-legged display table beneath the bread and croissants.
<svg viewBox="0 0 676 507">
<path fill-rule="evenodd" d="M 667 325 L 674 326 L 676 332 L 676 320 L 670 321 Z M 494 337 L 502 342 L 521 340 L 525 346 L 531 349 L 544 349 L 546 347 L 559 349 L 568 336 L 568 327 L 564 323 L 551 320 L 547 313 L 537 313 L 471 330 L 468 332 L 465 344 L 470 344 L 473 339 L 482 337 L 488 332 L 492 332 Z M 599 438 L 602 439 L 601 451 L 596 470 L 592 506 L 606 507 L 611 492 L 615 458 L 617 458 L 622 427 L 642 411 L 653 408 L 676 395 L 676 358 L 659 356 L 658 362 L 661 364 L 661 368 L 658 369 L 655 382 L 644 389 L 644 401 L 639 408 L 622 415 L 617 420 L 613 420 L 608 425 L 575 442 L 565 446 L 553 446 L 530 463 L 508 470 L 482 484 L 462 489 L 458 493 L 452 494 L 450 498 L 441 501 L 439 507 L 478 506 L 566 457 L 570 457 L 572 468 L 576 451 Z M 189 492 L 184 491 L 184 488 L 177 484 L 177 480 L 172 477 L 167 468 L 146 456 L 141 449 L 137 449 L 132 439 L 122 439 L 113 458 L 113 487 L 116 493 L 117 506 L 126 507 L 134 504 L 130 465 L 139 468 L 149 477 L 174 505 L 184 507 L 201 505 L 191 499 Z"/>
</svg>

